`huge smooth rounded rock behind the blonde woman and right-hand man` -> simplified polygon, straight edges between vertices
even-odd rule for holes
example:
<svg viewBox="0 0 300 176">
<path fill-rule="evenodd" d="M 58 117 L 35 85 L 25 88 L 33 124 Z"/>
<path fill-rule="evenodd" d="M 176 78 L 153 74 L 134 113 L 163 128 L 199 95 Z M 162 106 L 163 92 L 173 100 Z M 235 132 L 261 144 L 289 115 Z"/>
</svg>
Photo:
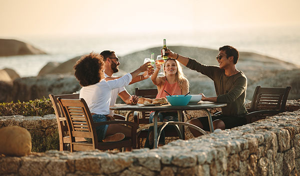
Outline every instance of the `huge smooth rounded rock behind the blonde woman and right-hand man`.
<svg viewBox="0 0 300 176">
<path fill-rule="evenodd" d="M 194 58 L 203 64 L 217 65 L 215 56 L 217 55 L 218 50 L 216 49 L 186 46 L 168 46 L 168 48 L 181 55 Z M 125 72 L 131 72 L 138 68 L 143 63 L 143 59 L 151 55 L 151 52 L 154 52 L 156 56 L 160 55 L 159 51 L 160 47 L 155 47 L 120 57 L 119 60 L 121 64 L 119 68 Z M 211 79 L 194 70 L 190 70 L 185 66 L 182 66 L 182 68 L 189 80 L 191 94 L 204 93 L 207 96 L 215 96 L 214 85 Z M 300 81 L 299 79 L 296 79 L 297 75 L 299 75 L 296 70 L 300 67 L 297 65 L 256 53 L 239 52 L 239 60 L 236 64 L 236 68 L 241 70 L 247 77 L 248 88 L 246 99 L 248 100 L 252 99 L 254 89 L 257 85 L 262 87 L 286 87 L 290 85 L 292 86 L 292 90 L 289 99 L 300 98 L 300 94 L 297 93 Z M 285 73 L 283 74 L 285 76 L 282 76 L 281 73 Z M 120 76 L 121 74 L 116 75 Z M 126 89 L 129 93 L 134 93 L 135 87 L 155 88 L 148 79 L 131 84 L 127 86 Z"/>
</svg>

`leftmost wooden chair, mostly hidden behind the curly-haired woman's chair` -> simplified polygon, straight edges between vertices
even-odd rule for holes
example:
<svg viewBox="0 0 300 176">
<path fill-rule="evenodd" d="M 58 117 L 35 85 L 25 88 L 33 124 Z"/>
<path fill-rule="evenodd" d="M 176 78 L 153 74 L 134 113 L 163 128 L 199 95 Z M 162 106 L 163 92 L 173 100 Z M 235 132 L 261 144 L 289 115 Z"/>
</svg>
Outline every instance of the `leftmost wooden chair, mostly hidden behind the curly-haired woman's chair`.
<svg viewBox="0 0 300 176">
<path fill-rule="evenodd" d="M 59 136 L 59 151 L 67 150 L 67 145 L 70 144 L 70 137 L 68 134 L 68 129 L 66 125 L 66 119 L 61 111 L 61 107 L 57 101 L 57 98 L 63 98 L 63 99 L 79 99 L 79 94 L 62 94 L 62 95 L 53 95 L 49 94 L 50 100 L 53 105 L 53 109 L 56 116 L 57 121 L 57 128 L 58 128 L 58 136 Z M 125 120 L 125 117 L 119 114 L 113 115 L 114 119 L 117 120 Z M 75 138 L 75 141 L 86 141 L 84 138 Z"/>
</svg>

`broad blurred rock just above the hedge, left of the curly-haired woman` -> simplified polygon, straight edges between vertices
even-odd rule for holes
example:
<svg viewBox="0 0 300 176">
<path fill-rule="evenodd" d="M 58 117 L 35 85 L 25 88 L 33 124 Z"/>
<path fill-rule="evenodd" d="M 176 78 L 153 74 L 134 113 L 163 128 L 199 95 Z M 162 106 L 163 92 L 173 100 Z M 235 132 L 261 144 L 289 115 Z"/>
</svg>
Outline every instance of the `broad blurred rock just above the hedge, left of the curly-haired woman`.
<svg viewBox="0 0 300 176">
<path fill-rule="evenodd" d="M 12 101 L 28 101 L 48 97 L 50 93 L 68 94 L 79 89 L 80 85 L 73 75 L 46 75 L 14 80 L 11 95 Z"/>
</svg>

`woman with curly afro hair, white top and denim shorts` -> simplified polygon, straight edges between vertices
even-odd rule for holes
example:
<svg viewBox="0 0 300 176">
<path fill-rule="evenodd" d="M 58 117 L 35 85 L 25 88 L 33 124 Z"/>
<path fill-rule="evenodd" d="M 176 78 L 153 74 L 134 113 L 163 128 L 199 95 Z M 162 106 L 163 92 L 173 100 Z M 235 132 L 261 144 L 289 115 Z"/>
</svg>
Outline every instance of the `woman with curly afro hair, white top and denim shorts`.
<svg viewBox="0 0 300 176">
<path fill-rule="evenodd" d="M 79 98 L 85 100 L 94 122 L 113 120 L 109 116 L 111 90 L 127 86 L 132 77 L 137 76 L 140 72 L 147 71 L 149 65 L 150 62 L 147 62 L 131 73 L 127 73 L 118 79 L 106 81 L 103 72 L 103 57 L 100 54 L 91 52 L 82 56 L 76 62 L 74 75 L 82 86 Z M 96 133 L 99 142 L 119 141 L 131 136 L 130 128 L 120 124 L 96 127 Z M 91 139 L 86 140 L 91 142 Z"/>
</svg>

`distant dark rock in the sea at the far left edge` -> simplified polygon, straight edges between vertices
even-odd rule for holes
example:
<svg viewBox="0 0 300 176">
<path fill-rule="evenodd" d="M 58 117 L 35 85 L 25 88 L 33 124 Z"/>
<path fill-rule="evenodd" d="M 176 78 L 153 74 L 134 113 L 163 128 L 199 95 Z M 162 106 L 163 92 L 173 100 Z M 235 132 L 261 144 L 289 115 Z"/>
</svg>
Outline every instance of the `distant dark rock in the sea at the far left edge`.
<svg viewBox="0 0 300 176">
<path fill-rule="evenodd" d="M 0 39 L 0 56 L 46 54 L 34 46 L 14 39 Z"/>
</svg>

